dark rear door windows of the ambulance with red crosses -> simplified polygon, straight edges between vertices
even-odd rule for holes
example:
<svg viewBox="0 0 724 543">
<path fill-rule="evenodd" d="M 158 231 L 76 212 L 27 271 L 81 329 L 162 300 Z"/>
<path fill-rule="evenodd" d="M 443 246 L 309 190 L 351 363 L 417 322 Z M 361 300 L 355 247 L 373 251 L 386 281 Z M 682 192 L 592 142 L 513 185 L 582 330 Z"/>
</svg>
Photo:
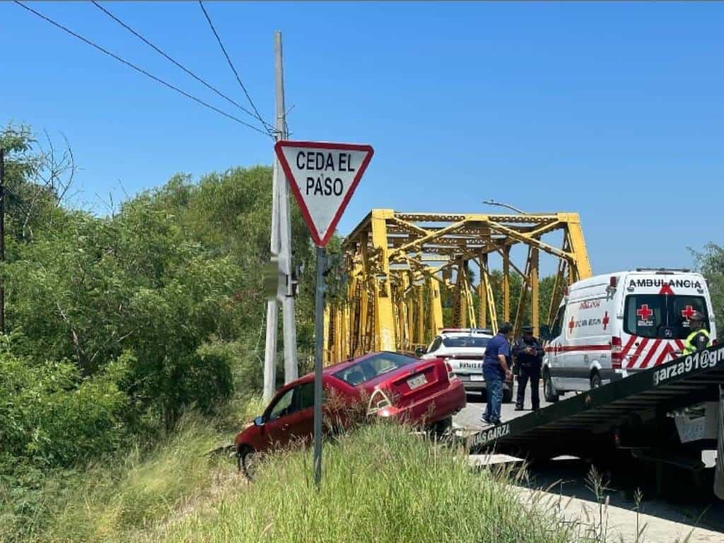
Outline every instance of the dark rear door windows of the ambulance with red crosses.
<svg viewBox="0 0 724 543">
<path fill-rule="evenodd" d="M 683 340 L 691 332 L 689 317 L 694 311 L 704 315 L 704 328 L 709 329 L 709 314 L 703 296 L 629 295 L 623 329 L 640 337 Z"/>
</svg>

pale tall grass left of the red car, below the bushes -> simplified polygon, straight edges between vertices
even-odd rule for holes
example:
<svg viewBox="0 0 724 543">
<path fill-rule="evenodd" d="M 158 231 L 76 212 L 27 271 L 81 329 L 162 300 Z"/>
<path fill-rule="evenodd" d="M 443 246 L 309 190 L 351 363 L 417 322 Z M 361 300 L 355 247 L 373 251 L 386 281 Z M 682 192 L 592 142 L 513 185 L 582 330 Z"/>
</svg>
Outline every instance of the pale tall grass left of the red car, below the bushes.
<svg viewBox="0 0 724 543">
<path fill-rule="evenodd" d="M 259 402 L 245 400 L 237 408 L 246 420 L 258 414 Z M 195 508 L 219 484 L 236 479 L 233 463 L 207 454 L 229 441 L 216 425 L 190 413 L 150 450 L 138 445 L 84 469 L 48 473 L 34 515 L 13 514 L 17 500 L 11 501 L 12 492 L 3 500 L 0 492 L 0 542 L 135 539 L 133 534 Z"/>
</svg>

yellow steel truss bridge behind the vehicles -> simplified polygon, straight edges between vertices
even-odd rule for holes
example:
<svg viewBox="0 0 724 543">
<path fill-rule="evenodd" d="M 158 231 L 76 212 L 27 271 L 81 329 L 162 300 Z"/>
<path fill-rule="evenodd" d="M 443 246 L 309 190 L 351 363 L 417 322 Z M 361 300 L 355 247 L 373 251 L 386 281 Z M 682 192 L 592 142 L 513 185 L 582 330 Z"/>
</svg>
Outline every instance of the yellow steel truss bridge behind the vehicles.
<svg viewBox="0 0 724 543">
<path fill-rule="evenodd" d="M 555 246 L 544 236 L 563 232 Z M 511 248 L 528 249 L 523 265 Z M 334 363 L 373 350 L 411 352 L 443 327 L 497 329 L 498 313 L 518 332 L 526 309 L 539 327 L 539 260 L 557 259 L 556 287 L 591 277 L 578 214 L 526 215 L 400 213 L 373 209 L 342 244 L 342 292 L 327 300 L 325 361 Z M 502 259 L 500 299 L 494 297 L 489 255 Z M 510 275 L 523 295 L 511 307 Z M 471 280 L 476 278 L 475 283 Z M 560 295 L 554 295 L 550 323 Z M 443 299 L 450 311 L 443 311 Z M 500 311 L 498 311 L 500 309 Z M 443 315 L 447 314 L 444 321 Z"/>
</svg>

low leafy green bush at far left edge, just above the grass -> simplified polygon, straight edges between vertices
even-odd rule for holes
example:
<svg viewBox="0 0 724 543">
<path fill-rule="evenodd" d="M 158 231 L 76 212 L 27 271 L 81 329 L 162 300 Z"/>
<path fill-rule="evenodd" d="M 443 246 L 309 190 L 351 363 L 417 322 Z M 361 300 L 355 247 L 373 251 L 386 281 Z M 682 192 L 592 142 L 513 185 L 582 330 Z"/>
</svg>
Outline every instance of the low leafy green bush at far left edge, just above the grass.
<svg viewBox="0 0 724 543">
<path fill-rule="evenodd" d="M 33 364 L 13 355 L 12 337 L 1 345 L 0 458 L 6 467 L 16 457 L 69 466 L 121 442 L 127 397 L 117 382 L 132 357 L 122 355 L 84 379 L 67 361 Z"/>
</svg>

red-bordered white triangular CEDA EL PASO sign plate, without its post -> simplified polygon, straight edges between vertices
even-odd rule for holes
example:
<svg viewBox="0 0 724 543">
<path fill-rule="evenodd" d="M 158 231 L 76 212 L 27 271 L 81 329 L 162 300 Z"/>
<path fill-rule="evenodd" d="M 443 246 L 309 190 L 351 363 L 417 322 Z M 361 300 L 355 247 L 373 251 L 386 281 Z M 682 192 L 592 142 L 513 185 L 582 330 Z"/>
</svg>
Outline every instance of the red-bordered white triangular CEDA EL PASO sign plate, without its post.
<svg viewBox="0 0 724 543">
<path fill-rule="evenodd" d="M 372 158 L 371 146 L 278 141 L 287 181 L 316 245 L 324 247 Z"/>
</svg>

